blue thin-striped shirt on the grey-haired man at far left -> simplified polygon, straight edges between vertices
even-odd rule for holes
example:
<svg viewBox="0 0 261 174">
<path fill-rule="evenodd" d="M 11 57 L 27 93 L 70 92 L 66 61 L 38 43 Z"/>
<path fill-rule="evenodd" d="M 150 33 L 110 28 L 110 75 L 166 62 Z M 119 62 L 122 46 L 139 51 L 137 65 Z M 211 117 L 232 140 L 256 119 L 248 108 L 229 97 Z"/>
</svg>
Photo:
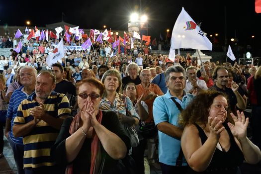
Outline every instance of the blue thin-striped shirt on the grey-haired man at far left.
<svg viewBox="0 0 261 174">
<path fill-rule="evenodd" d="M 21 103 L 22 100 L 26 99 L 28 96 L 29 95 L 23 91 L 23 86 L 20 87 L 19 89 L 15 89 L 9 100 L 9 105 L 8 105 L 8 110 L 6 115 L 7 118 L 11 119 L 11 130 L 9 132 L 9 137 L 14 143 L 20 145 L 23 145 L 23 138 L 22 137 L 15 138 L 13 136 L 13 131 L 12 131 L 13 120 L 17 115 L 17 109 L 19 104 Z"/>
</svg>

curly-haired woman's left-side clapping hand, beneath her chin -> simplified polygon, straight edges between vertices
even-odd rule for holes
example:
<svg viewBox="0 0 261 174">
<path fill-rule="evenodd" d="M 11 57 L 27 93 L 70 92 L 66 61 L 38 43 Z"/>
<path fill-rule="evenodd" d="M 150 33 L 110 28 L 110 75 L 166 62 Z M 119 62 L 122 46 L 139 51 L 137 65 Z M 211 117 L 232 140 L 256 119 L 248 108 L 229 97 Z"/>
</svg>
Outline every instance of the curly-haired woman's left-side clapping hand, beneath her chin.
<svg viewBox="0 0 261 174">
<path fill-rule="evenodd" d="M 210 136 L 215 136 L 217 139 L 219 139 L 220 133 L 225 129 L 225 127 L 222 125 L 222 121 L 218 121 L 217 117 L 214 119 L 212 117 L 208 117 L 208 125 Z"/>
</svg>

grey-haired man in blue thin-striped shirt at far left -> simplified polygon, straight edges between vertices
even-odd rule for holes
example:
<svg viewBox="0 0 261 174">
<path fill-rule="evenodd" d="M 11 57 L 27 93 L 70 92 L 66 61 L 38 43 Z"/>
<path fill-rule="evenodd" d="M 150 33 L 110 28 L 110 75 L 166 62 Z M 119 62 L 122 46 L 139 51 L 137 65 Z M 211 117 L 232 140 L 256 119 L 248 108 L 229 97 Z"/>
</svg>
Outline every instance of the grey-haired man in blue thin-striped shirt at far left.
<svg viewBox="0 0 261 174">
<path fill-rule="evenodd" d="M 13 150 L 13 156 L 17 167 L 18 174 L 24 174 L 23 170 L 23 138 L 15 138 L 13 136 L 12 127 L 13 120 L 17 114 L 17 108 L 22 100 L 26 99 L 35 88 L 37 71 L 33 67 L 24 66 L 20 70 L 20 82 L 23 85 L 19 89 L 14 90 L 9 100 L 7 119 L 4 134 L 8 139 Z"/>
</svg>

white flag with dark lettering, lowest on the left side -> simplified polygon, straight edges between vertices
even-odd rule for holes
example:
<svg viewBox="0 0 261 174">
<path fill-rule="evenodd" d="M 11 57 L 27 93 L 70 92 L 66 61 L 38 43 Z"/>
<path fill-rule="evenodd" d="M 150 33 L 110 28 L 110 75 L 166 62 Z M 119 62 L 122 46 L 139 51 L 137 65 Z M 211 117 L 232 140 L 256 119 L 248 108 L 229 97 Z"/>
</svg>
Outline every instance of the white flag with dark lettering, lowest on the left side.
<svg viewBox="0 0 261 174">
<path fill-rule="evenodd" d="M 57 44 L 55 49 L 48 55 L 46 62 L 49 67 L 64 57 L 64 41 L 63 39 Z"/>
</svg>

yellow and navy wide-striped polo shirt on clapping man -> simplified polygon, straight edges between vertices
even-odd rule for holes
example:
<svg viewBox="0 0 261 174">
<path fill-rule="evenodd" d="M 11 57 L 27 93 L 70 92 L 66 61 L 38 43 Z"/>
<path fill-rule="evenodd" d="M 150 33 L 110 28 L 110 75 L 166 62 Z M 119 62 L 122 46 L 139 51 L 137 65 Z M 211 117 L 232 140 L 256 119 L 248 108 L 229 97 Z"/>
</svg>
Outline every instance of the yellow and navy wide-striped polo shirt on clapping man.
<svg viewBox="0 0 261 174">
<path fill-rule="evenodd" d="M 14 124 L 26 124 L 34 119 L 30 110 L 39 106 L 34 100 L 35 92 L 24 99 L 18 107 Z M 65 94 L 51 92 L 44 101 L 45 112 L 55 118 L 71 115 L 70 103 Z M 51 146 L 55 143 L 60 130 L 51 127 L 48 123 L 40 120 L 30 133 L 23 136 L 24 168 L 38 168 L 41 166 L 53 166 L 54 161 L 50 156 Z"/>
</svg>

